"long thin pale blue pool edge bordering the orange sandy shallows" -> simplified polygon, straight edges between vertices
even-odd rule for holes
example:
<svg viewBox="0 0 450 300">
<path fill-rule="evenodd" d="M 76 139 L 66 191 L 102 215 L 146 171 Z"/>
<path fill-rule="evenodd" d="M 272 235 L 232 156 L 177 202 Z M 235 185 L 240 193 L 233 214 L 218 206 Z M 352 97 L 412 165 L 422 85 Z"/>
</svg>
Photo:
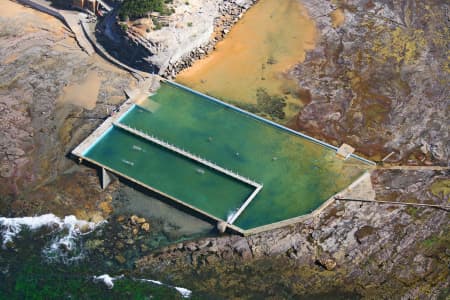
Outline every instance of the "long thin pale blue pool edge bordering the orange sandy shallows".
<svg viewBox="0 0 450 300">
<path fill-rule="evenodd" d="M 250 113 L 250 112 L 248 112 L 248 111 L 246 111 L 246 110 L 243 110 L 243 109 L 241 109 L 241 108 L 239 108 L 239 107 L 237 107 L 237 106 L 234 106 L 234 105 L 232 105 L 232 104 L 223 102 L 223 101 L 221 101 L 221 100 L 219 100 L 219 99 L 217 99 L 217 98 L 214 98 L 214 97 L 212 97 L 212 96 L 203 94 L 203 93 L 198 92 L 198 91 L 196 91 L 196 90 L 193 90 L 193 89 L 191 89 L 191 88 L 189 88 L 189 87 L 187 87 L 187 86 L 184 86 L 184 85 L 182 85 L 182 84 L 179 84 L 179 83 L 177 83 L 177 82 L 175 82 L 175 81 L 168 80 L 168 79 L 165 79 L 165 78 L 160 78 L 160 79 L 161 79 L 163 82 L 167 82 L 168 84 L 171 84 L 171 85 L 173 85 L 173 86 L 176 86 L 176 87 L 178 87 L 178 88 L 181 88 L 181 89 L 183 89 L 183 90 L 185 90 L 185 91 L 188 91 L 188 92 L 193 93 L 193 94 L 195 94 L 195 95 L 198 95 L 198 96 L 201 96 L 201 97 L 206 98 L 206 99 L 208 99 L 208 100 L 211 100 L 211 101 L 213 101 L 213 102 L 215 102 L 215 103 L 218 103 L 218 104 L 221 104 L 221 105 L 223 105 L 223 106 L 226 106 L 226 107 L 228 107 L 228 108 L 230 108 L 230 109 L 232 109 L 232 110 L 235 110 L 235 111 L 237 111 L 237 112 L 243 113 L 243 114 L 245 114 L 245 115 L 247 115 L 247 116 L 249 116 L 249 117 L 251 117 L 251 118 L 257 119 L 257 120 L 259 120 L 259 121 L 261 121 L 261 122 L 264 122 L 264 123 L 267 123 L 267 124 L 269 124 L 269 125 L 275 126 L 275 127 L 279 128 L 279 129 L 288 131 L 288 132 L 290 132 L 290 133 L 292 133 L 292 134 L 301 136 L 301 137 L 303 137 L 303 138 L 305 138 L 305 139 L 307 139 L 307 140 L 309 140 L 309 141 L 311 141 L 311 142 L 314 142 L 314 143 L 319 144 L 319 145 L 321 145 L 321 146 L 324 146 L 324 147 L 326 147 L 326 148 L 330 148 L 330 149 L 332 149 L 332 150 L 334 150 L 334 151 L 337 151 L 337 150 L 338 150 L 338 147 L 336 147 L 336 146 L 330 145 L 330 144 L 328 144 L 328 143 L 326 143 L 326 142 L 323 142 L 323 141 L 321 141 L 321 140 L 318 140 L 318 139 L 316 139 L 316 138 L 313 138 L 313 137 L 311 137 L 311 136 L 309 136 L 309 135 L 307 135 L 307 134 L 304 134 L 304 133 L 299 132 L 299 131 L 295 131 L 295 130 L 293 130 L 293 129 L 290 129 L 290 128 L 286 127 L 286 126 L 283 126 L 283 125 L 280 125 L 280 124 L 278 124 L 278 123 L 275 123 L 275 122 L 273 122 L 273 121 L 270 121 L 270 120 L 265 119 L 265 118 L 263 118 L 263 117 L 260 117 L 260 116 L 258 116 L 258 115 L 252 114 L 252 113 Z M 365 163 L 367 163 L 367 164 L 369 164 L 369 165 L 376 165 L 375 162 L 373 162 L 373 161 L 371 161 L 371 160 L 368 160 L 368 159 L 366 159 L 366 158 L 363 158 L 363 157 L 361 157 L 361 156 L 358 156 L 358 155 L 356 155 L 356 154 L 353 154 L 353 153 L 352 153 L 350 156 L 353 157 L 353 158 L 356 158 L 356 159 L 358 159 L 358 160 L 360 160 L 360 161 L 362 161 L 362 162 L 365 162 Z"/>
</svg>

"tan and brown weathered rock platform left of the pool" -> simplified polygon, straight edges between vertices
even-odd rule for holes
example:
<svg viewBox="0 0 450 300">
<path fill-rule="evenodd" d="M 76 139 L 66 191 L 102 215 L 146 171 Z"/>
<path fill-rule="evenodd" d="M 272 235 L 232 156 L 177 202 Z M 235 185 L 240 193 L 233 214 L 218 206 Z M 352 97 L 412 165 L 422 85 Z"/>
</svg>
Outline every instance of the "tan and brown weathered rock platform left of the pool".
<svg viewBox="0 0 450 300">
<path fill-rule="evenodd" d="M 111 190 L 101 191 L 95 170 L 77 167 L 67 155 L 124 99 L 134 79 L 82 52 L 57 19 L 11 1 L 0 6 L 0 211 L 108 216 Z M 71 93 L 94 97 L 85 100 L 95 107 L 64 102 L 66 87 L 89 74 L 101 80 L 98 93 Z"/>
</svg>

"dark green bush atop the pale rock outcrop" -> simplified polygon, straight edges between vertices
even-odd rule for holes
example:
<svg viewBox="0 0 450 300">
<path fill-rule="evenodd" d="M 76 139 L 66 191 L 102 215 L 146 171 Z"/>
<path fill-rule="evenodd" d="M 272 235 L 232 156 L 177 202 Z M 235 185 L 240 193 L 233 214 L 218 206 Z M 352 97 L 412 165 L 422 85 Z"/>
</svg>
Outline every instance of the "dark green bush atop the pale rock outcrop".
<svg viewBox="0 0 450 300">
<path fill-rule="evenodd" d="M 124 0 L 119 9 L 121 20 L 137 19 L 147 16 L 149 12 L 159 12 L 163 15 L 171 14 L 172 10 L 167 7 L 171 1 L 167 0 Z"/>
</svg>

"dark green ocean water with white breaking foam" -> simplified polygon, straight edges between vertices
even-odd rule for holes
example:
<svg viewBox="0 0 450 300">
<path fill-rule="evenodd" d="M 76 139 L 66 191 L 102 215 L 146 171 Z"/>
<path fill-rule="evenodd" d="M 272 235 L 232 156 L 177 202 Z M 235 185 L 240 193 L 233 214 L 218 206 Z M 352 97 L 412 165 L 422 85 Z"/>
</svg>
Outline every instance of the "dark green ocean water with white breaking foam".
<svg viewBox="0 0 450 300">
<path fill-rule="evenodd" d="M 88 247 L 113 234 L 107 223 L 74 216 L 0 217 L 0 299 L 196 298 L 185 287 L 137 277 L 132 266 Z"/>
</svg>

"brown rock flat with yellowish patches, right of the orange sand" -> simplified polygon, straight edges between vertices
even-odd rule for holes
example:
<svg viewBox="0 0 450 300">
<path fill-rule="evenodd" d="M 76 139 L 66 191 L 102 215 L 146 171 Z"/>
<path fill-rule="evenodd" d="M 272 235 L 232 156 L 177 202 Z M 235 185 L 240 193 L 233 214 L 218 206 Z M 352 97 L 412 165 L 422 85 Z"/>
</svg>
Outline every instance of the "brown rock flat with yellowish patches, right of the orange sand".
<svg viewBox="0 0 450 300">
<path fill-rule="evenodd" d="M 303 3 L 321 35 L 291 71 L 311 94 L 294 126 L 373 159 L 394 151 L 391 161 L 447 164 L 448 3 Z M 336 9 L 340 26 L 330 18 Z"/>
</svg>

